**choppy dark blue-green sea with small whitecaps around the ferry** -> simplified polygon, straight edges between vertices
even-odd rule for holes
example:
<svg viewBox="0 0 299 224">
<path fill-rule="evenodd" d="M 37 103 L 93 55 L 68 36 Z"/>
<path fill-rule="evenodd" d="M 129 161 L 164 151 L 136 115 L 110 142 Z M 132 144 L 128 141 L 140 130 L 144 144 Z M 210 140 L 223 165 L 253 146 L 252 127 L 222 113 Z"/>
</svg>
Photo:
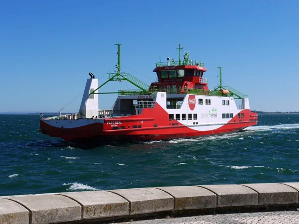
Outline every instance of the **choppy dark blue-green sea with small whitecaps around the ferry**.
<svg viewBox="0 0 299 224">
<path fill-rule="evenodd" d="M 260 114 L 238 133 L 102 145 L 43 135 L 39 115 L 0 115 L 0 171 L 0 196 L 298 182 L 299 114 Z"/>
</svg>

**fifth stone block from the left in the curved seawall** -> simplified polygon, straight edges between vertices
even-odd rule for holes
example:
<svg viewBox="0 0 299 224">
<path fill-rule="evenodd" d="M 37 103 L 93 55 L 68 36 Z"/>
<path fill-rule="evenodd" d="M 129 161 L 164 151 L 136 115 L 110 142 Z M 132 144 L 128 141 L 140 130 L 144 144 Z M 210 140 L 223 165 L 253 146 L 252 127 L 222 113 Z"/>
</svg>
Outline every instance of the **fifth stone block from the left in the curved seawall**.
<svg viewBox="0 0 299 224">
<path fill-rule="evenodd" d="M 216 195 L 196 186 L 158 187 L 175 198 L 174 210 L 216 207 Z"/>
</svg>

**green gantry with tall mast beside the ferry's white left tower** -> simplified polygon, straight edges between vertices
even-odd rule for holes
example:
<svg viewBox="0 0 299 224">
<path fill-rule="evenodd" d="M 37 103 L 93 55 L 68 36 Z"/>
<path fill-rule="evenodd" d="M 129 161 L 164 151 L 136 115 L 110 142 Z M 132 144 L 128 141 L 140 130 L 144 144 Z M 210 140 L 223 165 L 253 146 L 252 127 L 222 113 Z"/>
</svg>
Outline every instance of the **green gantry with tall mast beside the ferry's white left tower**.
<svg viewBox="0 0 299 224">
<path fill-rule="evenodd" d="M 97 89 L 95 89 L 93 92 L 91 92 L 89 95 L 91 95 L 91 94 L 119 94 L 120 92 L 124 93 L 123 95 L 152 94 L 152 92 L 154 90 L 150 90 L 149 85 L 147 85 L 146 83 L 137 79 L 136 77 L 132 76 L 130 73 L 121 72 L 121 45 L 122 44 L 117 42 L 117 44 L 115 44 L 115 45 L 117 45 L 117 64 L 116 64 L 117 71 L 115 71 L 115 73 L 108 73 L 108 80 L 105 83 L 103 83 L 101 86 L 99 86 Z M 117 82 L 128 81 L 128 82 L 132 83 L 134 86 L 138 87 L 140 89 L 140 91 L 134 90 L 134 91 L 132 91 L 132 93 L 131 93 L 131 91 L 95 93 L 98 89 L 100 89 L 102 86 L 104 86 L 105 84 L 107 84 L 110 81 L 117 81 Z"/>
</svg>

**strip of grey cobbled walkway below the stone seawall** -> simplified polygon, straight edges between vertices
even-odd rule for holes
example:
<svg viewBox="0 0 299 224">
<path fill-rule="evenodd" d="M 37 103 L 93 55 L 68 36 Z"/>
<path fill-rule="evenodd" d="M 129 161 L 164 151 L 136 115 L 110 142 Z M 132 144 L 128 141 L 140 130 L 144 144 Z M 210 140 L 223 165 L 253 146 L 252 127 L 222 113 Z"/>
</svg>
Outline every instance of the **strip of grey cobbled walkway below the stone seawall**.
<svg viewBox="0 0 299 224">
<path fill-rule="evenodd" d="M 299 211 L 192 216 L 118 224 L 299 224 Z"/>
</svg>

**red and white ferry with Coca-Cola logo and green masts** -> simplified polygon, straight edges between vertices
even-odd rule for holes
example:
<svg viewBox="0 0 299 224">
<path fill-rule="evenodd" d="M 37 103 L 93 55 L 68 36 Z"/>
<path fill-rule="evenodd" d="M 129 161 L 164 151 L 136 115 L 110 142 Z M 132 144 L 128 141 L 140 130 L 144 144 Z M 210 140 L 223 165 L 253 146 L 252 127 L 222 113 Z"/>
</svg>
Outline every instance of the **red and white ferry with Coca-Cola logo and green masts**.
<svg viewBox="0 0 299 224">
<path fill-rule="evenodd" d="M 248 96 L 222 86 L 221 66 L 219 85 L 210 90 L 204 63 L 191 60 L 185 51 L 181 60 L 179 44 L 179 60 L 168 57 L 157 62 L 153 69 L 157 79 L 149 86 L 121 72 L 121 44 L 116 45 L 115 73 L 108 73 L 100 86 L 89 73 L 78 113 L 59 112 L 47 118 L 41 113 L 43 134 L 73 142 L 151 141 L 237 132 L 257 124 L 258 114 L 250 110 Z M 128 81 L 138 89 L 100 92 L 111 81 Z M 102 94 L 118 94 L 111 110 L 99 109 Z"/>
</svg>

